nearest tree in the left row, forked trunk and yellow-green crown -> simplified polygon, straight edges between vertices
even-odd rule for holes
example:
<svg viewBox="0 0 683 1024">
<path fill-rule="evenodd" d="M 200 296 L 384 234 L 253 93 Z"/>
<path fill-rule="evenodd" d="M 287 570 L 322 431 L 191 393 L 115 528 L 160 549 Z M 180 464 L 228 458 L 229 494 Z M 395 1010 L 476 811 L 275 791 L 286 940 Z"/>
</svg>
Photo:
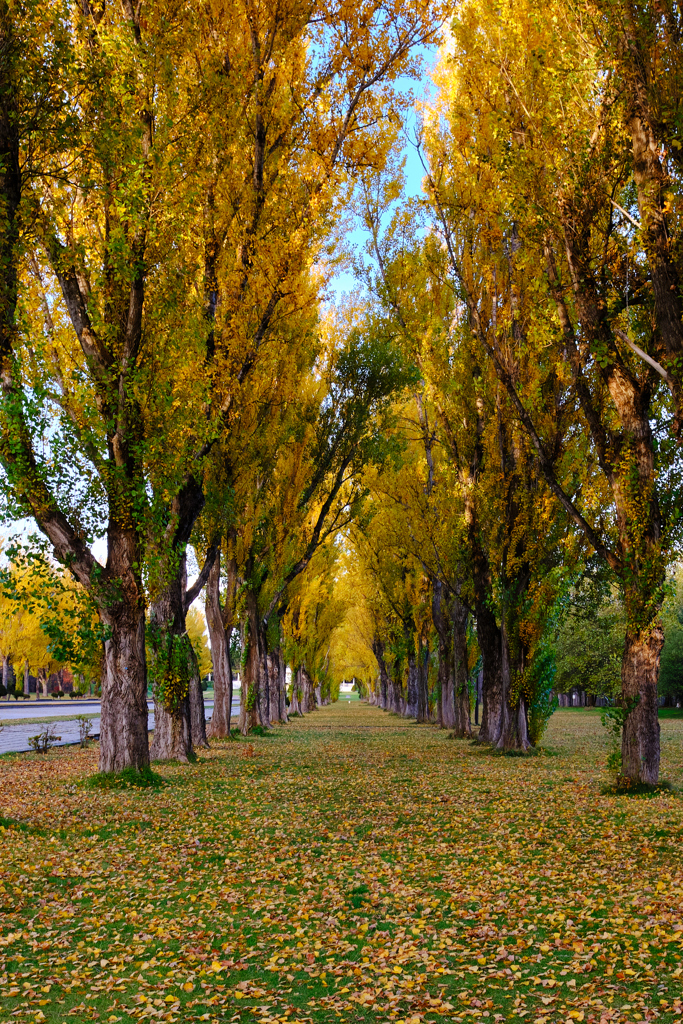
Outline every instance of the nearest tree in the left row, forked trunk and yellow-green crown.
<svg viewBox="0 0 683 1024">
<path fill-rule="evenodd" d="M 166 31 L 164 5 L 141 16 L 129 3 L 54 4 L 47 18 L 34 17 L 32 8 L 4 5 L 0 18 L 8 282 L 0 459 L 16 507 L 99 609 L 100 768 L 141 768 L 145 426 L 148 408 L 167 404 L 171 376 L 191 358 L 187 340 L 202 312 L 173 275 L 187 197 L 176 135 L 186 94 L 175 84 L 186 36 L 184 27 Z M 187 134 L 181 140 L 193 150 Z M 179 330 L 168 330 L 171 323 Z M 169 418 L 167 439 L 177 422 Z M 182 452 L 177 435 L 169 451 Z M 102 518 L 103 565 L 88 543 Z"/>
</svg>

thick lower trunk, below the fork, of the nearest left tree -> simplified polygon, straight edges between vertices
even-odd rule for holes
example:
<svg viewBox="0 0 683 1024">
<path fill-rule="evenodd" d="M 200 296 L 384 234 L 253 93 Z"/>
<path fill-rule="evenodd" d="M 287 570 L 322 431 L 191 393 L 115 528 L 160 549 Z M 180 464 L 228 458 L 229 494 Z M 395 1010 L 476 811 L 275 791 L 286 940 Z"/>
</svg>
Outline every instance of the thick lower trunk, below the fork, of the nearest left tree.
<svg viewBox="0 0 683 1024">
<path fill-rule="evenodd" d="M 142 602 L 122 602 L 108 614 L 108 620 L 110 635 L 104 641 L 99 770 L 146 768 L 150 744 Z"/>
</svg>

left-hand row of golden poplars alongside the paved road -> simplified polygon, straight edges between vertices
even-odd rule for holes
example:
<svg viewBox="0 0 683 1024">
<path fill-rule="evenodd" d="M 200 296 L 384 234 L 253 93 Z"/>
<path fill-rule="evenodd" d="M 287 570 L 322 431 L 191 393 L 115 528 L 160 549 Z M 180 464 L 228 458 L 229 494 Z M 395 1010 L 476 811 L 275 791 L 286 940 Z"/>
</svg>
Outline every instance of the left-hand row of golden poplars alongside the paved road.
<svg viewBox="0 0 683 1024">
<path fill-rule="evenodd" d="M 268 720 L 289 588 L 354 513 L 404 377 L 372 325 L 323 323 L 330 247 L 438 23 L 423 0 L 0 2 L 6 515 L 97 609 L 104 771 L 148 763 L 147 669 L 154 756 L 206 742 L 204 586 L 213 731 L 238 614 Z"/>
</svg>

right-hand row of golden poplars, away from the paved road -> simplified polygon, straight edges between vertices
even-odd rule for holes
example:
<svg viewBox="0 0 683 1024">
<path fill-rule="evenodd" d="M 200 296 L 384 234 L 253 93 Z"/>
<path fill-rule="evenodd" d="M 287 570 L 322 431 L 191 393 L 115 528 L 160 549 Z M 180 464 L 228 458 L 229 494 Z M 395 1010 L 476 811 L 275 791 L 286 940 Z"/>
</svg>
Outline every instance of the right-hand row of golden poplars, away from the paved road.
<svg viewBox="0 0 683 1024">
<path fill-rule="evenodd" d="M 432 632 L 466 732 L 474 623 L 480 738 L 526 748 L 587 575 L 623 608 L 622 772 L 644 783 L 681 532 L 682 30 L 666 3 L 459 4 L 426 196 L 396 208 L 369 174 L 362 208 L 375 315 L 420 371 L 350 535 L 382 693 L 424 713 Z"/>
</svg>

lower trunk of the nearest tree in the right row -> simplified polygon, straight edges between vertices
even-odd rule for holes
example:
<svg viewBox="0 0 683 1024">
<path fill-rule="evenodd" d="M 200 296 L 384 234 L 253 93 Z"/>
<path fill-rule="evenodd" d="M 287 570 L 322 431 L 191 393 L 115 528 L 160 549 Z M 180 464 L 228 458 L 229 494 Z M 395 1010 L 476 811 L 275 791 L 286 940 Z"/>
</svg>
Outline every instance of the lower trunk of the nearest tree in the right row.
<svg viewBox="0 0 683 1024">
<path fill-rule="evenodd" d="M 659 625 L 628 633 L 622 660 L 622 694 L 628 710 L 622 734 L 622 775 L 632 784 L 659 778 L 657 679 L 664 632 Z"/>
</svg>

